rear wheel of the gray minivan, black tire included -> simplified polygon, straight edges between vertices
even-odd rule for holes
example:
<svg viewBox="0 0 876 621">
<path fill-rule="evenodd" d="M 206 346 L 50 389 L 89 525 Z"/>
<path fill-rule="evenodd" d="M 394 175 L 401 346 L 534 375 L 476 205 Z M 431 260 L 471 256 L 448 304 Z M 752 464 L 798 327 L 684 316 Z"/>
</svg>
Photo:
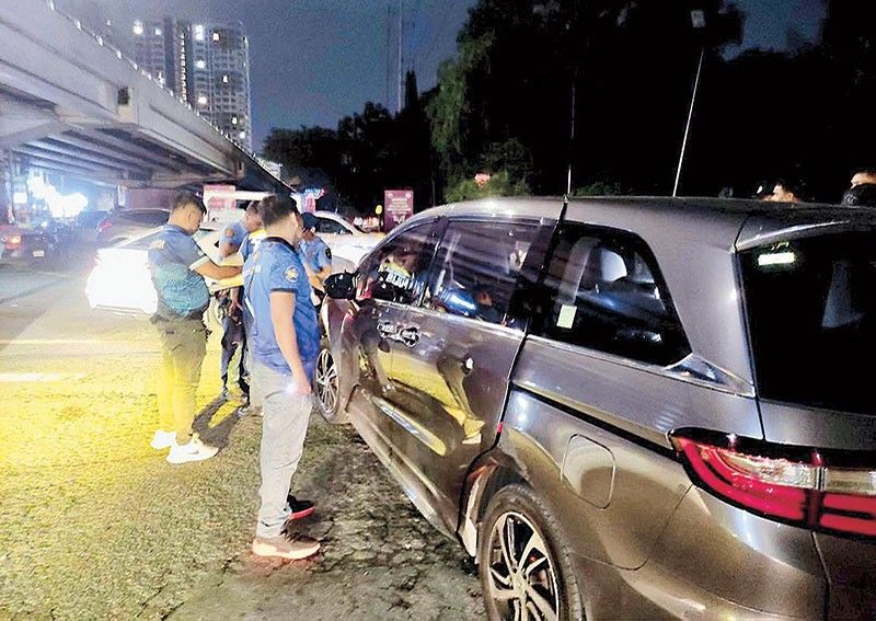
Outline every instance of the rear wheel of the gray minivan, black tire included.
<svg viewBox="0 0 876 621">
<path fill-rule="evenodd" d="M 497 537 L 508 532 L 509 529 L 516 534 L 522 534 L 521 539 L 526 540 L 516 542 L 514 549 L 517 550 L 517 554 L 511 554 L 512 556 L 522 555 L 523 548 L 528 543 L 533 544 L 532 552 L 528 556 L 534 559 L 531 566 L 534 563 L 535 570 L 528 580 L 522 577 L 515 579 L 510 576 L 510 572 L 506 571 L 507 563 L 502 552 L 500 539 L 497 540 Z M 528 533 L 531 536 L 528 537 Z M 499 548 L 496 548 L 497 545 Z M 532 490 L 526 485 L 514 484 L 497 492 L 487 505 L 477 542 L 481 588 L 489 620 L 514 619 L 514 606 L 535 606 L 529 598 L 530 591 L 525 590 L 532 586 L 537 586 L 538 590 L 533 591 L 543 597 L 542 605 L 549 603 L 551 608 L 558 605 L 556 618 L 560 621 L 584 619 L 580 589 L 569 554 L 570 550 L 563 543 L 556 518 Z M 546 566 L 543 560 L 545 557 Z M 516 561 L 519 559 L 511 562 Z M 493 585 L 500 585 L 500 577 L 508 579 L 509 589 L 516 588 L 518 593 L 527 594 L 522 599 L 508 600 L 508 610 L 500 609 L 500 605 L 491 597 L 495 588 Z"/>
</svg>

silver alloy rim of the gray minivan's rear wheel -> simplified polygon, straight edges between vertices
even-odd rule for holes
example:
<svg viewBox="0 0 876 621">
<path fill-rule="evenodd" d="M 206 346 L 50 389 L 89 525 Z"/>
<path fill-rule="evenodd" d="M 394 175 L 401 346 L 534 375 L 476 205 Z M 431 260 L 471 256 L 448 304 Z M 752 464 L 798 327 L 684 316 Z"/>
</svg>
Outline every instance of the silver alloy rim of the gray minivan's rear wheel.
<svg viewBox="0 0 876 621">
<path fill-rule="evenodd" d="M 535 527 L 521 514 L 507 511 L 489 533 L 491 598 L 504 619 L 560 619 L 555 564 Z"/>
</svg>

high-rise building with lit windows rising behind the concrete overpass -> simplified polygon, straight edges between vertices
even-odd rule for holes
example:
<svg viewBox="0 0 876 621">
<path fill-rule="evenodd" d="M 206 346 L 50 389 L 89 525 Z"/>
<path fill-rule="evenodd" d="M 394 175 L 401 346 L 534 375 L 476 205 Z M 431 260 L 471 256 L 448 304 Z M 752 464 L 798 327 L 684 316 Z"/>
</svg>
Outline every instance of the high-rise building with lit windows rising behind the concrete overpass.
<svg viewBox="0 0 876 621">
<path fill-rule="evenodd" d="M 250 44 L 243 24 L 135 22 L 135 60 L 222 133 L 252 150 Z"/>
</svg>

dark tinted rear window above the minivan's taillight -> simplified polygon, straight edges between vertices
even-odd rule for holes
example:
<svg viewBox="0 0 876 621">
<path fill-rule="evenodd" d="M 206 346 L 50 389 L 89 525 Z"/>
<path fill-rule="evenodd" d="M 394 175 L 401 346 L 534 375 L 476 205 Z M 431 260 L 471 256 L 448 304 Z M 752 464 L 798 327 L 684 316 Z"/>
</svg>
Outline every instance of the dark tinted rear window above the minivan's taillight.
<svg viewBox="0 0 876 621">
<path fill-rule="evenodd" d="M 772 243 L 740 262 L 761 398 L 876 414 L 876 233 Z"/>
</svg>

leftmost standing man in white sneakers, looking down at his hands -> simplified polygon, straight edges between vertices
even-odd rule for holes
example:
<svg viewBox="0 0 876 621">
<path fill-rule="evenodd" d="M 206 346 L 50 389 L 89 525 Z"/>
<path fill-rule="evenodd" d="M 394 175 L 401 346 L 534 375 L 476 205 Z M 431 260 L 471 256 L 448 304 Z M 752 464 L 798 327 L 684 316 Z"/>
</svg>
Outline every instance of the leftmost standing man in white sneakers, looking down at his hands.
<svg viewBox="0 0 876 621">
<path fill-rule="evenodd" d="M 170 448 L 170 463 L 200 461 L 216 455 L 192 433 L 195 392 L 207 347 L 204 311 L 209 291 L 204 276 L 217 280 L 240 274 L 240 267 L 219 266 L 192 238 L 207 209 L 193 194 L 173 202 L 168 223 L 149 246 L 149 272 L 158 294 L 151 322 L 161 338 L 161 371 L 158 381 L 159 428 L 151 446 Z"/>
</svg>

